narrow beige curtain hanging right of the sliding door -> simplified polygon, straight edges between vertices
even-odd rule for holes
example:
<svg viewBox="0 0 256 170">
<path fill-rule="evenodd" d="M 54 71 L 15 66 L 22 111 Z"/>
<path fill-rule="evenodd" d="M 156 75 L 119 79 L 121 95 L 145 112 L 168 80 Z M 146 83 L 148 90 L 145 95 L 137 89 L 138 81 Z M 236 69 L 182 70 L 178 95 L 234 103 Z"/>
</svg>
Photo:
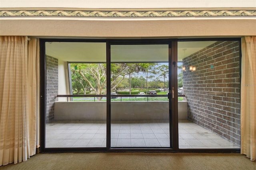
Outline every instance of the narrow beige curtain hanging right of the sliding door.
<svg viewBox="0 0 256 170">
<path fill-rule="evenodd" d="M 242 38 L 241 154 L 256 160 L 256 36 Z"/>
</svg>

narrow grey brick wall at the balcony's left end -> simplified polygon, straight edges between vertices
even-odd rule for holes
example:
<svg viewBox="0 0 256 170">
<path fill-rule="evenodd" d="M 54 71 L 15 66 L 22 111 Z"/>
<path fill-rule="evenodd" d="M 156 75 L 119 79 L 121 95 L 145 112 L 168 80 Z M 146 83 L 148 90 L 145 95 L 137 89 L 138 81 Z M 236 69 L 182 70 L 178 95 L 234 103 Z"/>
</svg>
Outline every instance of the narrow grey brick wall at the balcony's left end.
<svg viewBox="0 0 256 170">
<path fill-rule="evenodd" d="M 58 59 L 46 55 L 46 123 L 54 119 L 54 102 L 58 95 Z"/>
</svg>

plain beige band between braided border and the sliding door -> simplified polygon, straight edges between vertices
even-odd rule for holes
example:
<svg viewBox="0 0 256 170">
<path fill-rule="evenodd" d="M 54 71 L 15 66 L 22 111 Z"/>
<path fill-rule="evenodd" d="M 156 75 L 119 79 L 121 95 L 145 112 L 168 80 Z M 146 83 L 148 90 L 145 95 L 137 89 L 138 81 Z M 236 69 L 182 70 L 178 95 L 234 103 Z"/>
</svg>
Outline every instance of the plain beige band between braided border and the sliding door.
<svg viewBox="0 0 256 170">
<path fill-rule="evenodd" d="M 179 38 L 256 35 L 256 18 L 165 20 L 2 19 L 0 35 L 81 38 Z"/>
</svg>

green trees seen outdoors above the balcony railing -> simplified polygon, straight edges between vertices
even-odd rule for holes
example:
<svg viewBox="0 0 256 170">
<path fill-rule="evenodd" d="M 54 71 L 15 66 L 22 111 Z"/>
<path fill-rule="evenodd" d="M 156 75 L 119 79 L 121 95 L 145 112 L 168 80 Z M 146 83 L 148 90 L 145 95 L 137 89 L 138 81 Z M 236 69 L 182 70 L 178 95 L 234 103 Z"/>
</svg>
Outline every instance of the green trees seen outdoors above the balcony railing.
<svg viewBox="0 0 256 170">
<path fill-rule="evenodd" d="M 131 94 L 132 88 L 146 88 L 148 91 L 149 87 L 167 87 L 168 66 L 156 66 L 158 63 L 111 63 L 111 91 L 129 88 Z M 77 94 L 81 92 L 86 94 L 86 90 L 90 90 L 96 95 L 106 95 L 106 63 L 71 63 L 70 69 L 72 89 Z M 162 78 L 164 81 L 161 80 Z M 100 101 L 102 97 L 97 99 Z"/>
</svg>

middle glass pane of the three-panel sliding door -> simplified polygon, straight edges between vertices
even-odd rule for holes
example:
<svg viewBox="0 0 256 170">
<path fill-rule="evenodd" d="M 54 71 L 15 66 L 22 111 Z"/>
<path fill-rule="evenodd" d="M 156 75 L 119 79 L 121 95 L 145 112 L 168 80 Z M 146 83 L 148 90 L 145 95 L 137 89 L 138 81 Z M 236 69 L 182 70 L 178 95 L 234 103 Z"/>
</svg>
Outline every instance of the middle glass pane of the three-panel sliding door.
<svg viewBox="0 0 256 170">
<path fill-rule="evenodd" d="M 110 147 L 170 147 L 169 44 L 110 45 Z"/>
</svg>

